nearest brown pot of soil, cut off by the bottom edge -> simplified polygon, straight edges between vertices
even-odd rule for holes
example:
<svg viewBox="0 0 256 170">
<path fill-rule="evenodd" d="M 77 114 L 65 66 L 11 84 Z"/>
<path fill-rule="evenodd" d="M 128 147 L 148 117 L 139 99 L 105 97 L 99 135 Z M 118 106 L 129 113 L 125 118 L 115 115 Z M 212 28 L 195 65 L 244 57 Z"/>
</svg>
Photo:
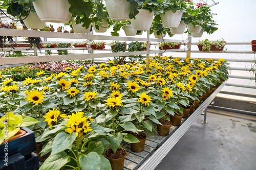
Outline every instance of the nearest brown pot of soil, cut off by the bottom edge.
<svg viewBox="0 0 256 170">
<path fill-rule="evenodd" d="M 116 153 L 112 149 L 108 149 L 105 152 L 105 157 L 110 161 L 112 170 L 122 170 L 124 159 L 126 156 L 126 151 L 124 149 L 118 148 Z"/>
</svg>

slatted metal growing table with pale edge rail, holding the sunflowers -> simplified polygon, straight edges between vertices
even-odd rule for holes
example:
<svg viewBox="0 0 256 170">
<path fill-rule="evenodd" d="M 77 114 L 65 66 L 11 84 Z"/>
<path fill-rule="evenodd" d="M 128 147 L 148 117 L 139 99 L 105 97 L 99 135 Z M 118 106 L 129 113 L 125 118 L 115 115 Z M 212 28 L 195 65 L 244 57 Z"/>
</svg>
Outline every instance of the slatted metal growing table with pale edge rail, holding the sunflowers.
<svg viewBox="0 0 256 170">
<path fill-rule="evenodd" d="M 161 160 L 168 154 L 168 152 L 174 147 L 174 145 L 185 134 L 188 128 L 195 122 L 195 120 L 204 111 L 204 120 L 202 123 L 206 124 L 207 106 L 214 100 L 215 96 L 225 86 L 226 82 L 223 82 L 211 95 L 203 101 L 199 107 L 190 114 L 188 118 L 182 118 L 180 126 L 171 126 L 169 135 L 159 136 L 154 133 L 154 137 L 147 134 L 145 141 L 145 149 L 140 153 L 133 152 L 130 148 L 130 143 L 124 145 L 127 156 L 124 160 L 125 170 L 151 170 L 161 162 Z M 146 133 L 146 132 L 144 132 Z"/>
</svg>

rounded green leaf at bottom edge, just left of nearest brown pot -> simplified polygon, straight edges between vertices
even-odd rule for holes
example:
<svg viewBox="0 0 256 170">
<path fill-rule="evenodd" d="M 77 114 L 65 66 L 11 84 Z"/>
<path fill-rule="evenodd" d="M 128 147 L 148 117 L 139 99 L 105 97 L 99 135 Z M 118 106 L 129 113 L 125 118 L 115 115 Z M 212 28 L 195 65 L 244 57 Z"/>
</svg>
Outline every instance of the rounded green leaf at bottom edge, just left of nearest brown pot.
<svg viewBox="0 0 256 170">
<path fill-rule="evenodd" d="M 82 170 L 100 170 L 101 159 L 96 152 L 90 152 L 87 155 L 81 155 L 78 159 Z"/>
</svg>

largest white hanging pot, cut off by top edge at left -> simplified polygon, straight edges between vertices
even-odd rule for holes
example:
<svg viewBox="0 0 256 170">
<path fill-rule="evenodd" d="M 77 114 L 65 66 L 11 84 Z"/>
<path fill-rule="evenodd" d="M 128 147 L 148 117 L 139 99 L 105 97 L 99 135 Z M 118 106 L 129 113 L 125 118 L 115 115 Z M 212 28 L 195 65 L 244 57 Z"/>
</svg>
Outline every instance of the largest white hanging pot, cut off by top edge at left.
<svg viewBox="0 0 256 170">
<path fill-rule="evenodd" d="M 44 22 L 66 23 L 71 18 L 68 0 L 36 0 L 33 6 L 38 17 Z"/>
</svg>

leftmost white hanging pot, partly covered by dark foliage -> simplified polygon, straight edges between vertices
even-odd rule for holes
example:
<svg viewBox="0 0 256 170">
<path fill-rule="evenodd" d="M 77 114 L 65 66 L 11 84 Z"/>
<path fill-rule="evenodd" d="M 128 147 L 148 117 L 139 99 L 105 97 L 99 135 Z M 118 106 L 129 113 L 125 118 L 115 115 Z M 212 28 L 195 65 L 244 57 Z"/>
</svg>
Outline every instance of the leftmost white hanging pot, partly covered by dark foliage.
<svg viewBox="0 0 256 170">
<path fill-rule="evenodd" d="M 24 18 L 25 17 L 22 17 L 22 19 Z M 44 28 L 46 24 L 46 22 L 42 22 L 40 18 L 32 12 L 29 13 L 28 17 L 24 19 L 23 22 L 25 23 L 25 26 L 27 28 L 31 28 L 31 29 Z"/>
</svg>

